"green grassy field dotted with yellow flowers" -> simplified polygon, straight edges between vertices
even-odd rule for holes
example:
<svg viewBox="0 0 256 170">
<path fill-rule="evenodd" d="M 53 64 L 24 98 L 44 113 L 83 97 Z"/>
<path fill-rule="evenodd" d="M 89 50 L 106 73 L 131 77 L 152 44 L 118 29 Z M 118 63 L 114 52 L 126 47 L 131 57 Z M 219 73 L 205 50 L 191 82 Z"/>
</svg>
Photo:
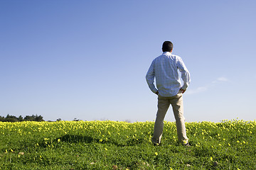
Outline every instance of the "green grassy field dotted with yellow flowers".
<svg viewBox="0 0 256 170">
<path fill-rule="evenodd" d="M 191 147 L 165 122 L 0 122 L 0 169 L 256 169 L 256 122 L 186 123 Z"/>
</svg>

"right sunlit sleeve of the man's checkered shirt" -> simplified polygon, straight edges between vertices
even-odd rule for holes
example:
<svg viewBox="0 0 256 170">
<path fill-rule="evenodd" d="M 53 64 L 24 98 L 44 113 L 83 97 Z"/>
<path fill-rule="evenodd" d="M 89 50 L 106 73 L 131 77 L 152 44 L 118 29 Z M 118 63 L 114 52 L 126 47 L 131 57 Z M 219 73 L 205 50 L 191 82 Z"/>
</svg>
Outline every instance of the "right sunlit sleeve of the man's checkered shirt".
<svg viewBox="0 0 256 170">
<path fill-rule="evenodd" d="M 186 68 L 181 58 L 178 59 L 177 67 L 178 70 L 181 72 L 181 79 L 183 80 L 183 86 L 181 87 L 181 89 L 186 90 L 191 82 L 190 73 L 188 72 L 188 69 Z"/>
</svg>

